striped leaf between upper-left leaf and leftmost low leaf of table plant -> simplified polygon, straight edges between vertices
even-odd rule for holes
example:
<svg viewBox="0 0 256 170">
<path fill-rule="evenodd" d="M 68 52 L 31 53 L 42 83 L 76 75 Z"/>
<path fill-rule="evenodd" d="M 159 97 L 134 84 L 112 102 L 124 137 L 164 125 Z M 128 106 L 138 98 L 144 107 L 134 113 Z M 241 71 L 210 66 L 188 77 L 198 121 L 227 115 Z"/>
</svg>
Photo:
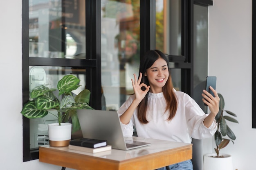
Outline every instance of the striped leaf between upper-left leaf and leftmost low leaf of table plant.
<svg viewBox="0 0 256 170">
<path fill-rule="evenodd" d="M 37 109 L 54 109 L 59 106 L 58 102 L 53 101 L 47 97 L 38 97 L 35 99 L 35 105 Z"/>
</svg>

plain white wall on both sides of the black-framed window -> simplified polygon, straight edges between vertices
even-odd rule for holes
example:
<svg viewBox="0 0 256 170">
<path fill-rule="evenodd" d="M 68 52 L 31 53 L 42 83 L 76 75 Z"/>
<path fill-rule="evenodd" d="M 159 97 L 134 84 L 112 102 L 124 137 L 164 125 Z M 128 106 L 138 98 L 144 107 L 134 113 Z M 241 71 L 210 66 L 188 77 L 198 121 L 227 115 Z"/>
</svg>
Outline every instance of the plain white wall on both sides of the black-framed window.
<svg viewBox="0 0 256 170">
<path fill-rule="evenodd" d="M 22 162 L 22 1 L 1 4 L 1 169 L 59 170 L 38 160 Z M 225 108 L 236 113 L 239 121 L 229 124 L 237 137 L 235 144 L 221 151 L 233 156 L 234 168 L 252 170 L 256 150 L 256 129 L 252 129 L 252 0 L 214 0 L 209 7 L 209 74 L 217 76 L 217 91 L 225 98 Z M 205 153 L 213 151 L 208 142 L 204 144 Z"/>
</svg>

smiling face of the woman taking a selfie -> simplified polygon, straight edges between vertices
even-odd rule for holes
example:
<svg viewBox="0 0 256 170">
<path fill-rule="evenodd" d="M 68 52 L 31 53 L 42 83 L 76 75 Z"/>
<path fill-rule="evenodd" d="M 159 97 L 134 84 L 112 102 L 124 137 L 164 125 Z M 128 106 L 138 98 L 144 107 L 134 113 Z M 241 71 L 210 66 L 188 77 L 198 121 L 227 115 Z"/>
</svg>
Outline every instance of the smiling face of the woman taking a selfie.
<svg viewBox="0 0 256 170">
<path fill-rule="evenodd" d="M 160 93 L 169 77 L 167 63 L 164 59 L 157 59 L 150 68 L 146 70 L 145 76 L 148 78 L 150 92 Z"/>
</svg>

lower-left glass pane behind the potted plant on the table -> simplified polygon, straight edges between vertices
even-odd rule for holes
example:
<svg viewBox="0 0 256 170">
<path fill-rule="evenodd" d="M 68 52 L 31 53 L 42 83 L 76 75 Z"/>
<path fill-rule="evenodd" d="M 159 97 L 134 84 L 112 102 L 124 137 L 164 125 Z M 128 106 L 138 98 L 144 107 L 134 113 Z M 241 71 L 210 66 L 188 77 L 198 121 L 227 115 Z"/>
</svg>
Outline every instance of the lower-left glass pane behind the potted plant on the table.
<svg viewBox="0 0 256 170">
<path fill-rule="evenodd" d="M 30 66 L 29 67 L 29 90 L 31 91 L 38 85 L 57 88 L 58 81 L 67 74 L 73 74 L 80 79 L 78 89 L 72 93 L 79 94 L 85 89 L 85 69 L 75 69 L 71 67 L 49 67 L 49 66 Z M 58 96 L 58 90 L 54 91 Z M 54 112 L 52 112 L 54 113 Z M 40 145 L 49 144 L 48 128 L 49 123 L 57 122 L 57 118 L 48 114 L 44 118 L 29 119 L 30 123 L 30 148 L 38 148 Z"/>
</svg>

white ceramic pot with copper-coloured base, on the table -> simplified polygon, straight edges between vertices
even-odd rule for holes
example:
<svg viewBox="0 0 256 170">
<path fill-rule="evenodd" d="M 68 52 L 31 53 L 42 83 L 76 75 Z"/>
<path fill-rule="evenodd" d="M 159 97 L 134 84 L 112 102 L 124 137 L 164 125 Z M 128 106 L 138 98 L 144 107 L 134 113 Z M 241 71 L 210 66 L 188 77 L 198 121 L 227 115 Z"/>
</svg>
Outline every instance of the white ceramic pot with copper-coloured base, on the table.
<svg viewBox="0 0 256 170">
<path fill-rule="evenodd" d="M 68 146 L 71 139 L 71 127 L 71 123 L 61 123 L 61 126 L 58 123 L 48 124 L 50 146 Z"/>
</svg>

